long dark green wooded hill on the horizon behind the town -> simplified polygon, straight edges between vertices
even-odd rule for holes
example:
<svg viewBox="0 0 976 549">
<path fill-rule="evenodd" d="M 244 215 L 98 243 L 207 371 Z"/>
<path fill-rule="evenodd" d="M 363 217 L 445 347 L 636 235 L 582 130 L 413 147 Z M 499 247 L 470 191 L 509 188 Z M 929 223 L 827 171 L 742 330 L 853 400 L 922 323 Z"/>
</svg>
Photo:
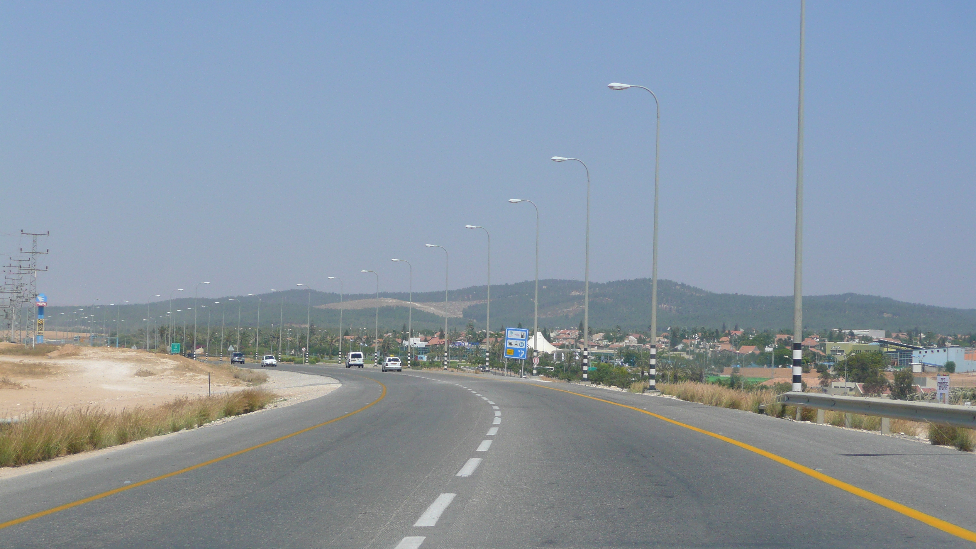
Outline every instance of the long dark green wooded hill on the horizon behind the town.
<svg viewBox="0 0 976 549">
<path fill-rule="evenodd" d="M 532 325 L 532 294 L 533 281 L 514 284 L 499 284 L 492 286 L 491 323 L 493 329 L 502 326 L 513 326 L 521 322 L 523 326 Z M 540 328 L 571 328 L 576 327 L 583 319 L 583 282 L 579 280 L 547 279 L 539 281 L 539 326 Z M 713 293 L 702 288 L 687 284 L 660 280 L 658 285 L 659 315 L 658 324 L 662 331 L 669 326 L 706 326 L 718 328 L 725 324 L 732 328 L 740 327 L 789 328 L 793 323 L 792 296 L 754 296 L 745 294 Z M 406 292 L 381 292 L 382 298 L 403 300 L 408 299 Z M 258 301 L 256 297 L 233 296 L 240 300 L 241 325 L 254 326 L 258 319 Z M 289 290 L 263 294 L 261 297 L 261 324 L 264 329 L 271 323 L 277 325 L 279 318 L 287 324 L 305 324 L 307 290 Z M 448 297 L 452 302 L 479 301 L 485 299 L 484 286 L 472 286 L 451 290 Z M 338 309 L 323 309 L 323 306 L 339 302 L 338 293 L 311 292 L 311 319 L 319 327 L 330 328 L 339 325 Z M 344 301 L 373 299 L 374 294 L 346 294 Z M 444 301 L 444 292 L 415 292 L 415 302 L 428 303 L 438 308 Z M 214 305 L 214 302 L 221 302 Z M 282 307 L 283 302 L 283 307 Z M 616 280 L 612 282 L 590 282 L 590 326 L 601 330 L 616 325 L 626 329 L 647 330 L 650 323 L 651 280 L 638 278 L 632 280 Z M 212 326 L 220 326 L 226 306 L 225 322 L 227 326 L 236 327 L 238 302 L 224 298 L 200 298 L 199 305 L 206 305 L 209 309 L 200 308 L 197 322 L 201 326 L 207 323 L 208 313 Z M 362 304 L 360 304 L 361 306 Z M 193 299 L 183 298 L 173 301 L 174 315 L 178 322 L 185 320 L 192 325 Z M 355 306 L 354 303 L 348 304 Z M 81 306 L 86 307 L 86 306 Z M 91 306 L 87 306 L 91 307 Z M 87 309 L 86 307 L 86 309 Z M 428 308 L 428 309 L 431 309 Z M 52 320 L 57 325 L 66 325 L 66 317 L 78 307 L 49 307 L 49 325 Z M 158 320 L 168 310 L 168 302 L 155 302 L 148 306 L 148 316 Z M 181 310 L 176 313 L 176 310 Z M 438 309 L 441 311 L 442 309 Z M 104 306 L 97 310 L 98 318 L 111 318 L 114 326 L 116 313 L 125 320 L 122 326 L 130 326 L 129 331 L 136 331 L 144 327 L 146 305 L 130 304 L 120 307 Z M 60 313 L 67 313 L 60 316 Z M 473 320 L 479 329 L 484 328 L 485 305 L 473 304 L 464 309 L 464 317 L 451 317 L 451 326 L 464 327 Z M 343 312 L 344 329 L 348 327 L 373 327 L 375 309 L 345 309 Z M 57 317 L 57 319 L 55 319 Z M 381 307 L 380 326 L 386 328 L 402 328 L 407 322 L 407 308 Z M 415 309 L 413 323 L 415 329 L 436 329 L 443 327 L 442 316 Z M 889 331 L 906 331 L 909 329 L 932 330 L 942 334 L 976 332 L 976 310 L 951 309 L 896 301 L 890 298 L 861 295 L 841 294 L 806 296 L 803 298 L 803 322 L 807 329 L 822 330 L 830 328 L 874 328 Z M 56 329 L 52 326 L 50 329 Z M 114 327 L 112 328 L 114 330 Z"/>
</svg>

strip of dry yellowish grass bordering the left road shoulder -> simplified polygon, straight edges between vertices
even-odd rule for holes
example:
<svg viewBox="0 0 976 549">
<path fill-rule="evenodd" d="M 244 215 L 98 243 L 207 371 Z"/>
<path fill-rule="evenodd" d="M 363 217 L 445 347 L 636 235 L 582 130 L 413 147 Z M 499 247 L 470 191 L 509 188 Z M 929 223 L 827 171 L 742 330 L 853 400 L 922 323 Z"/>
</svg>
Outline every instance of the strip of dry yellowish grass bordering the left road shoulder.
<svg viewBox="0 0 976 549">
<path fill-rule="evenodd" d="M 223 417 L 264 408 L 275 395 L 244 389 L 184 397 L 156 407 L 109 412 L 97 406 L 38 409 L 0 426 L 0 467 L 26 465 L 148 437 L 193 429 Z"/>
</svg>

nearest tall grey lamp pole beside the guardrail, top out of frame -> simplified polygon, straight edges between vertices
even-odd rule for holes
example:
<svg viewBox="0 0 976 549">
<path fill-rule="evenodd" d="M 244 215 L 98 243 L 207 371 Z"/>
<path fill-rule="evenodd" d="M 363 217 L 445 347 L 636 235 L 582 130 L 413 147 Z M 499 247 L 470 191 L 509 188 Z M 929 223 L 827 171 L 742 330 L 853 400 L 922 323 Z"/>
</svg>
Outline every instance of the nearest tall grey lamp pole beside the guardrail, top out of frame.
<svg viewBox="0 0 976 549">
<path fill-rule="evenodd" d="M 796 111 L 796 233 L 793 251 L 793 391 L 803 390 L 803 42 L 806 2 L 799 0 L 799 101 Z M 797 414 L 799 410 L 797 409 Z"/>
</svg>

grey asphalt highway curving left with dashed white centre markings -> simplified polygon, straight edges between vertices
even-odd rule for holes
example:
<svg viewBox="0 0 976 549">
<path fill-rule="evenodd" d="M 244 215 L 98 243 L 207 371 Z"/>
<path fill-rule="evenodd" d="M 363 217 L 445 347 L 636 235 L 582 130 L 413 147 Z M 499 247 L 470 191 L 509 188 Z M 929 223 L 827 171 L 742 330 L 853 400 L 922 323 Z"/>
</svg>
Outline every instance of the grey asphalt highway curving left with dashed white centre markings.
<svg viewBox="0 0 976 549">
<path fill-rule="evenodd" d="M 344 386 L 0 481 L 0 523 L 368 407 L 0 529 L 0 547 L 971 545 L 872 494 L 976 531 L 976 456 L 952 449 L 575 385 L 429 370 L 288 369 Z M 751 444 L 869 495 L 612 402 Z"/>
</svg>

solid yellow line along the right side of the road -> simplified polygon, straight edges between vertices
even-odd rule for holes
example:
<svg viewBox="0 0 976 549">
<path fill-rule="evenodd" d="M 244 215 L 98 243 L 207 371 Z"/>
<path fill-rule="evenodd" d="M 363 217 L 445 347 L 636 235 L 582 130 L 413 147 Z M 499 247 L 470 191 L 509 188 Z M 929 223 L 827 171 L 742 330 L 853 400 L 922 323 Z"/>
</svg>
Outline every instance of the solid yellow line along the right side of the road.
<svg viewBox="0 0 976 549">
<path fill-rule="evenodd" d="M 631 410 L 634 410 L 634 411 L 638 411 L 638 412 L 641 412 L 641 413 L 646 413 L 647 415 L 652 415 L 652 416 L 654 416 L 654 417 L 656 417 L 656 418 L 658 418 L 658 419 L 660 419 L 662 421 L 667 421 L 668 423 L 671 423 L 672 425 L 677 425 L 679 427 L 684 427 L 685 429 L 690 429 L 692 431 L 696 431 L 696 432 L 701 433 L 703 435 L 708 435 L 709 437 L 713 437 L 713 438 L 718 439 L 719 441 L 722 441 L 722 442 L 725 442 L 725 443 L 735 444 L 735 445 L 737 445 L 737 446 L 739 446 L 741 448 L 744 448 L 744 449 L 747 449 L 747 450 L 749 450 L 751 452 L 757 453 L 757 454 L 759 454 L 759 455 L 761 455 L 763 457 L 768 457 L 769 459 L 772 459 L 773 461 L 776 461 L 778 463 L 782 463 L 783 465 L 786 465 L 787 467 L 793 469 L 794 471 L 798 471 L 800 473 L 803 473 L 804 475 L 808 475 L 810 477 L 813 477 L 814 479 L 817 479 L 818 481 L 821 481 L 821 482 L 827 483 L 828 485 L 831 485 L 831 486 L 840 488 L 840 489 L 842 489 L 842 490 L 844 490 L 846 492 L 853 493 L 854 495 L 863 497 L 863 498 L 865 498 L 865 499 L 867 499 L 869 501 L 874 501 L 874 503 L 876 503 L 876 504 L 878 504 L 878 505 L 880 505 L 882 507 L 887 507 L 888 509 L 891 509 L 892 511 L 896 511 L 898 513 L 901 513 L 902 515 L 905 515 L 906 517 L 911 517 L 911 518 L 915 519 L 916 521 L 919 521 L 921 523 L 925 523 L 926 525 L 928 525 L 928 526 L 930 526 L 932 528 L 941 529 L 944 532 L 951 533 L 951 534 L 955 535 L 956 537 L 961 537 L 962 539 L 966 539 L 966 540 L 969 540 L 969 541 L 976 541 L 976 532 L 967 530 L 966 528 L 957 527 L 956 525 L 954 525 L 952 523 L 947 523 L 946 521 L 943 521 L 942 519 L 937 519 L 937 518 L 935 518 L 935 517 L 933 517 L 931 515 L 926 515 L 925 513 L 922 513 L 921 511 L 916 511 L 915 509 L 913 509 L 911 507 L 908 507 L 908 506 L 905 506 L 905 505 L 902 505 L 901 503 L 898 503 L 897 501 L 892 501 L 892 500 L 890 500 L 890 499 L 888 499 L 886 497 L 881 497 L 881 496 L 879 496 L 879 495 L 877 495 L 875 493 L 872 493 L 872 492 L 870 492 L 870 491 L 868 491 L 868 490 L 866 490 L 864 488 L 859 488 L 857 486 L 848 485 L 847 483 L 844 483 L 842 481 L 838 481 L 838 480 L 834 479 L 833 477 L 828 477 L 827 475 L 824 475 L 823 473 L 821 473 L 819 471 L 815 471 L 813 469 L 810 469 L 809 467 L 805 467 L 803 465 L 800 465 L 799 463 L 796 463 L 794 461 L 791 461 L 791 460 L 789 460 L 789 459 L 787 459 L 785 457 L 776 455 L 775 453 L 768 452 L 768 451 L 766 451 L 764 449 L 761 449 L 761 448 L 757 448 L 757 447 L 752 446 L 750 444 L 741 443 L 741 442 L 736 441 L 734 439 L 729 439 L 728 437 L 723 437 L 723 436 L 718 435 L 716 433 L 712 433 L 711 431 L 706 431 L 705 429 L 700 429 L 700 428 L 695 427 L 693 425 L 687 425 L 685 423 L 681 423 L 680 421 L 675 421 L 675 420 L 673 420 L 671 418 L 668 418 L 668 417 L 665 417 L 663 415 L 656 414 L 654 412 L 650 412 L 650 411 L 647 411 L 647 410 L 644 410 L 644 409 L 640 409 L 638 407 L 629 406 L 627 404 L 621 404 L 619 402 L 614 402 L 614 401 L 604 401 L 603 399 L 598 399 L 596 397 L 590 397 L 589 395 L 582 395 L 580 393 L 573 393 L 572 391 L 565 391 L 563 389 L 556 389 L 555 387 L 546 387 L 545 385 L 541 385 L 541 386 L 537 386 L 537 387 L 542 387 L 544 389 L 551 389 L 552 391 L 559 391 L 560 393 L 569 393 L 570 395 L 576 395 L 578 397 L 583 397 L 584 399 L 591 399 L 593 401 L 601 401 L 601 402 L 606 402 L 608 404 L 614 404 L 614 405 L 617 405 L 617 406 L 621 406 L 621 407 L 625 407 L 625 408 L 630 408 Z"/>
</svg>

